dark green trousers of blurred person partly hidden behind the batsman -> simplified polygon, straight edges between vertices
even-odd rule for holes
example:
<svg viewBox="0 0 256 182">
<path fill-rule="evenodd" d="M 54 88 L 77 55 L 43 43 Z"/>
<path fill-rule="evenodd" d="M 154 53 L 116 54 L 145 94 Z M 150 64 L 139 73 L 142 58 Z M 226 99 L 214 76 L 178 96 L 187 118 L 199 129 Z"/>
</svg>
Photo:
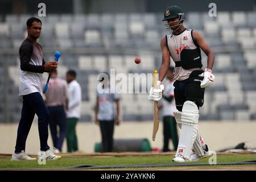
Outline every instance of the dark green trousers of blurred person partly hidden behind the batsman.
<svg viewBox="0 0 256 182">
<path fill-rule="evenodd" d="M 164 147 L 163 151 L 169 150 L 169 139 L 172 139 L 174 150 L 177 150 L 179 139 L 177 136 L 176 120 L 172 116 L 163 117 L 163 134 L 164 134 Z"/>
</svg>

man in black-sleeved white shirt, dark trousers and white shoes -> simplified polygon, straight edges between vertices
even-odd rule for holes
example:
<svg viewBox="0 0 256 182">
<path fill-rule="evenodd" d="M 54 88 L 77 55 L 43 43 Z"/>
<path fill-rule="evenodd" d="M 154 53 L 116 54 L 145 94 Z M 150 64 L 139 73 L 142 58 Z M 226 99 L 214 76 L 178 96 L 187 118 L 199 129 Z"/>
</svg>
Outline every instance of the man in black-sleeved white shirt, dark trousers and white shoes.
<svg viewBox="0 0 256 182">
<path fill-rule="evenodd" d="M 56 160 L 61 156 L 54 155 L 48 140 L 49 111 L 44 104 L 42 93 L 42 73 L 57 68 L 56 61 L 46 63 L 43 49 L 36 40 L 40 36 L 42 22 L 38 18 L 27 20 L 27 38 L 19 48 L 19 96 L 23 97 L 22 116 L 20 118 L 16 138 L 15 152 L 11 160 L 35 160 L 25 152 L 26 140 L 35 114 L 38 115 L 38 131 L 40 138 L 39 159 Z"/>
</svg>

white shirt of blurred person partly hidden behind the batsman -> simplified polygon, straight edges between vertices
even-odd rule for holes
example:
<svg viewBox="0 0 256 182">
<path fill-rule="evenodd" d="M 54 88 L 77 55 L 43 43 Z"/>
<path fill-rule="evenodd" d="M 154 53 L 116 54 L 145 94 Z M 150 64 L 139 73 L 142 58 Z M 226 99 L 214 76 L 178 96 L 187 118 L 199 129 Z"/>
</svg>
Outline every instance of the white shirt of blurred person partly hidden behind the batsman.
<svg viewBox="0 0 256 182">
<path fill-rule="evenodd" d="M 175 81 L 175 80 L 174 80 Z M 174 81 L 167 81 L 167 84 L 164 84 L 164 92 L 163 95 L 166 97 L 173 96 L 174 97 Z M 174 111 L 177 111 L 176 105 L 175 105 L 175 98 L 172 99 L 171 102 L 166 101 L 164 98 L 162 98 L 163 101 L 163 116 L 173 116 L 174 117 Z"/>
</svg>

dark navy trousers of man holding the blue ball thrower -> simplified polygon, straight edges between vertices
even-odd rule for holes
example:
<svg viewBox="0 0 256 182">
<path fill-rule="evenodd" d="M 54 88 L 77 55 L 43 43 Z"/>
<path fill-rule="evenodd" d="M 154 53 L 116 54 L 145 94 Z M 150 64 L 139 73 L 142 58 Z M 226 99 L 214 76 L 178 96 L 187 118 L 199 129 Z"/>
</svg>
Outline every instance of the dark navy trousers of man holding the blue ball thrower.
<svg viewBox="0 0 256 182">
<path fill-rule="evenodd" d="M 22 115 L 19 121 L 15 152 L 25 151 L 27 135 L 30 132 L 35 114 L 38 115 L 38 131 L 40 138 L 40 150 L 47 151 L 48 140 L 48 119 L 49 111 L 44 104 L 43 98 L 39 92 L 23 96 Z"/>
</svg>

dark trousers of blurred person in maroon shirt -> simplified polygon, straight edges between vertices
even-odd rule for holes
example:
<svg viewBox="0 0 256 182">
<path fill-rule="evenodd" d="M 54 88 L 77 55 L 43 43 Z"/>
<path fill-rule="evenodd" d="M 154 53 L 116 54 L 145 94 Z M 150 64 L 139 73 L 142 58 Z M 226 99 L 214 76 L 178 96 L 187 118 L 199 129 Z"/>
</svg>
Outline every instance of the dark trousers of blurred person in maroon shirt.
<svg viewBox="0 0 256 182">
<path fill-rule="evenodd" d="M 49 128 L 51 130 L 53 146 L 61 151 L 67 126 L 64 106 L 48 106 L 48 110 L 50 114 Z M 57 133 L 57 126 L 59 126 L 59 134 Z"/>
</svg>

